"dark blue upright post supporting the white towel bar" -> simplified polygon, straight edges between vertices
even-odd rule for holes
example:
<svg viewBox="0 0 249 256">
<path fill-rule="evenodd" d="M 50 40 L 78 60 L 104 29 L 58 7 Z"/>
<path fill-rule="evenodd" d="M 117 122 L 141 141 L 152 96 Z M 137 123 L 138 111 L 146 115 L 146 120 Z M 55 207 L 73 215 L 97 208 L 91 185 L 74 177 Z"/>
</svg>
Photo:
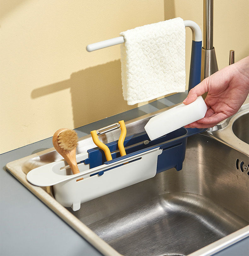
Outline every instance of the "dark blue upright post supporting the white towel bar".
<svg viewBox="0 0 249 256">
<path fill-rule="evenodd" d="M 200 83 L 202 41 L 192 41 L 188 91 Z"/>
</svg>

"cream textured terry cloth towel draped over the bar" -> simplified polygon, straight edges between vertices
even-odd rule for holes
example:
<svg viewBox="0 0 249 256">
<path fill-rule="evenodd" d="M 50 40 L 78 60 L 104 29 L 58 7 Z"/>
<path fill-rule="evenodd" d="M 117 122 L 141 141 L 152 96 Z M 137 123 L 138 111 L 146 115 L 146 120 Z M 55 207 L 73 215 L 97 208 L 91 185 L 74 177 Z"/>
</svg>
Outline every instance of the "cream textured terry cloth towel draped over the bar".
<svg viewBox="0 0 249 256">
<path fill-rule="evenodd" d="M 123 96 L 128 105 L 185 91 L 185 26 L 181 18 L 120 33 Z"/>
</svg>

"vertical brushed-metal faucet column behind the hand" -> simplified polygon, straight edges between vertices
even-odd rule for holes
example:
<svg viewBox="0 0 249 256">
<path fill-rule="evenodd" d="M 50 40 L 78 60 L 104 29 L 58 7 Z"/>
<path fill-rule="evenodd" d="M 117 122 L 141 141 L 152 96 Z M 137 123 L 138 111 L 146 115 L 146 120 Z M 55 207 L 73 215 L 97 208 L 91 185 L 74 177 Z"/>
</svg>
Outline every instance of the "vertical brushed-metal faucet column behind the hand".
<svg viewBox="0 0 249 256">
<path fill-rule="evenodd" d="M 203 0 L 203 47 L 201 50 L 201 81 L 218 71 L 213 46 L 213 0 Z"/>
</svg>

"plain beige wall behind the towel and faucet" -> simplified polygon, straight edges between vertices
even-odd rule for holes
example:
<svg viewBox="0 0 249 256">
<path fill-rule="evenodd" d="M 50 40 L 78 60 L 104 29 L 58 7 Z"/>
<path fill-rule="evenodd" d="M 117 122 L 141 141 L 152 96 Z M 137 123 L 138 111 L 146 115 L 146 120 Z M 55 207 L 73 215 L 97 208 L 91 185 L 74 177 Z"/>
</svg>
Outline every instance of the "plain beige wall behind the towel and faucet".
<svg viewBox="0 0 249 256">
<path fill-rule="evenodd" d="M 201 0 L 1 0 L 0 153 L 135 108 L 121 88 L 119 45 L 85 46 L 136 26 L 182 17 L 202 28 Z M 248 55 L 248 0 L 216 0 L 219 68 Z M 231 18 L 232 17 L 232 18 Z M 188 80 L 191 44 L 186 29 Z M 140 104 L 141 105 L 141 104 Z M 99 127 L 96 127 L 99 128 Z"/>
</svg>

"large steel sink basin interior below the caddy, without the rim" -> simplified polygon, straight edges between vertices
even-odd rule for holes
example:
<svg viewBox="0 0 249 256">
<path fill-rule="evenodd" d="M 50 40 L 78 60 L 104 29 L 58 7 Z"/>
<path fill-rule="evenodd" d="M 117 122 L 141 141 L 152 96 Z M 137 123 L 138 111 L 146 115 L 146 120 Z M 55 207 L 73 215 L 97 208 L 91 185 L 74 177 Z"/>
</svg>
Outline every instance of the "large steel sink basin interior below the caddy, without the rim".
<svg viewBox="0 0 249 256">
<path fill-rule="evenodd" d="M 248 175 L 236 169 L 237 158 L 247 160 L 195 135 L 181 171 L 68 210 L 123 255 L 188 255 L 248 225 Z"/>
</svg>

